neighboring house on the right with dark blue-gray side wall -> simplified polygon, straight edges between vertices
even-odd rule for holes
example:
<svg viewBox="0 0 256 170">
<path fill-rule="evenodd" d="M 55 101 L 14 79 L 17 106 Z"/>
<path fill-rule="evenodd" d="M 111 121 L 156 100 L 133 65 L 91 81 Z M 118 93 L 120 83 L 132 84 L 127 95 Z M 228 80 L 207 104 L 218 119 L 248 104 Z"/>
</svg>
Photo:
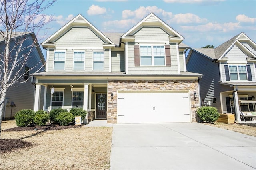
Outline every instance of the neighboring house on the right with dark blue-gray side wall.
<svg viewBox="0 0 256 170">
<path fill-rule="evenodd" d="M 186 65 L 204 75 L 199 82 L 203 104 L 236 113 L 238 122 L 240 111 L 255 111 L 256 44 L 243 32 L 215 49 L 190 49 Z"/>
</svg>

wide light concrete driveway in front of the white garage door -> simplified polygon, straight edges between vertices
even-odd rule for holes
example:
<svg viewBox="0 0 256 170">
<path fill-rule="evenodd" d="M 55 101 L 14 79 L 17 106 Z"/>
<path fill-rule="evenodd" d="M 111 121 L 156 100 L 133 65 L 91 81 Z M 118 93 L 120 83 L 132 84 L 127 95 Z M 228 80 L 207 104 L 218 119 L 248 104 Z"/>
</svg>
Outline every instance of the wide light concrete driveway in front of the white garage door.
<svg viewBox="0 0 256 170">
<path fill-rule="evenodd" d="M 256 169 L 256 138 L 200 123 L 113 125 L 110 169 Z"/>
</svg>

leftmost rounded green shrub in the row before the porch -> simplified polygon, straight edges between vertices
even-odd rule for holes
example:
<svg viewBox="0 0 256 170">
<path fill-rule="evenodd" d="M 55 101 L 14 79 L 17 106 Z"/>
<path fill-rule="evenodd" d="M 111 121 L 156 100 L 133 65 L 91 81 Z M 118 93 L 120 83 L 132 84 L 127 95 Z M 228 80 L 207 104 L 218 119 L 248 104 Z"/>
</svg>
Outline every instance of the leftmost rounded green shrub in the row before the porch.
<svg viewBox="0 0 256 170">
<path fill-rule="evenodd" d="M 22 109 L 18 111 L 14 118 L 18 127 L 27 127 L 30 124 L 34 124 L 34 117 L 36 113 L 32 109 Z"/>
</svg>

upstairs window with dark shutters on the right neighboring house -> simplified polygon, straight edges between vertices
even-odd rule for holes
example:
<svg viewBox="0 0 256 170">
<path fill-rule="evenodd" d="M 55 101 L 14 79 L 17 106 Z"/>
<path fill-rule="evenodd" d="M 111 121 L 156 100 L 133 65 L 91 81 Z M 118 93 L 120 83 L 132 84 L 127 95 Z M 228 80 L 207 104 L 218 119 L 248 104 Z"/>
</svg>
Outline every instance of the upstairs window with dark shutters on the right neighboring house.
<svg viewBox="0 0 256 170">
<path fill-rule="evenodd" d="M 248 80 L 245 65 L 229 66 L 230 80 Z"/>
</svg>

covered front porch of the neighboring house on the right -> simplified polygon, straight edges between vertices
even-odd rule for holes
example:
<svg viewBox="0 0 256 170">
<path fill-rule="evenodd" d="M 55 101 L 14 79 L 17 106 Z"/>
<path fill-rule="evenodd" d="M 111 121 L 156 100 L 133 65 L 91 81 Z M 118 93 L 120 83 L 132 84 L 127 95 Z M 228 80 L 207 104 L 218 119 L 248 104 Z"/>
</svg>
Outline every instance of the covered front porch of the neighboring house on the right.
<svg viewBox="0 0 256 170">
<path fill-rule="evenodd" d="M 245 121 L 244 115 L 252 115 L 256 111 L 256 83 L 248 82 L 231 82 L 221 83 L 233 87 L 232 91 L 224 91 L 220 93 L 222 113 L 234 114 L 236 123 Z M 254 120 L 247 119 L 247 120 Z"/>
</svg>

